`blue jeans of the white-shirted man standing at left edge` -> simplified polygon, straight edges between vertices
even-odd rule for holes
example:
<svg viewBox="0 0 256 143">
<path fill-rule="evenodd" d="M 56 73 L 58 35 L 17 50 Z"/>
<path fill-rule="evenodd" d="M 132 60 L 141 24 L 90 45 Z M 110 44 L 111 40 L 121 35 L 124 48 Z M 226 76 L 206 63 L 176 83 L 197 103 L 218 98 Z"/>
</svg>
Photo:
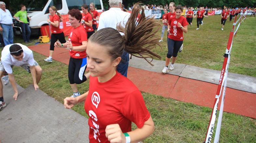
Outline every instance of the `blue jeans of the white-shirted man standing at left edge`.
<svg viewBox="0 0 256 143">
<path fill-rule="evenodd" d="M 13 30 L 12 25 L 1 24 L 3 28 L 3 39 L 5 45 L 13 44 Z"/>
</svg>

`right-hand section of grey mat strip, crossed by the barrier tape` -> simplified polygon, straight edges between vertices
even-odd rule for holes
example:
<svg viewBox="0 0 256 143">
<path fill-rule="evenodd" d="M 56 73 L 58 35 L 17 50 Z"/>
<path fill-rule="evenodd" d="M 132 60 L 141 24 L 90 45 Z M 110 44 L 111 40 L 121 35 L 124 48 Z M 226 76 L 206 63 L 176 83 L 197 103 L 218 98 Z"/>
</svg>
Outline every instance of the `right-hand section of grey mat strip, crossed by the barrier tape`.
<svg viewBox="0 0 256 143">
<path fill-rule="evenodd" d="M 220 79 L 220 71 L 187 65 L 181 72 L 180 76 L 218 84 Z M 229 72 L 227 87 L 250 93 L 256 93 L 256 78 Z"/>
</svg>

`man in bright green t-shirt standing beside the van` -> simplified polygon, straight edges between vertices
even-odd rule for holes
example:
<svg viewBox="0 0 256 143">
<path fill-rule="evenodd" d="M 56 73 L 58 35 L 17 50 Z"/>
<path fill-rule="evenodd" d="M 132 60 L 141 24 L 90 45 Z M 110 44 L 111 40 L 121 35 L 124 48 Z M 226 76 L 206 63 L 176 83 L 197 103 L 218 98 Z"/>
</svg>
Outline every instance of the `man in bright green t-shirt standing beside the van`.
<svg viewBox="0 0 256 143">
<path fill-rule="evenodd" d="M 20 7 L 21 7 L 21 10 L 18 11 L 13 16 L 13 18 L 15 18 L 17 21 L 20 22 L 23 40 L 24 40 L 24 42 L 29 43 L 30 42 L 29 38 L 30 38 L 31 30 L 28 26 L 27 18 L 29 20 L 31 20 L 31 18 L 27 15 L 26 6 L 25 5 L 20 5 Z"/>
</svg>

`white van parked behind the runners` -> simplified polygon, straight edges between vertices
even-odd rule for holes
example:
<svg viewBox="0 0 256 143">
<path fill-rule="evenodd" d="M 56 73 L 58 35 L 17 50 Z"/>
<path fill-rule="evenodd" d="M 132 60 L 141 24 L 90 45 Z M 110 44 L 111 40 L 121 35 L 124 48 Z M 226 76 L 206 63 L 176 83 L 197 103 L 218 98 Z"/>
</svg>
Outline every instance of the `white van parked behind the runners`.
<svg viewBox="0 0 256 143">
<path fill-rule="evenodd" d="M 90 3 L 95 4 L 98 12 L 103 12 L 102 0 L 31 0 L 30 4 L 26 5 L 27 14 L 31 17 L 31 20 L 29 20 L 31 35 L 40 35 L 41 26 L 48 25 L 50 6 L 54 5 L 61 15 L 66 15 L 70 9 L 77 8 L 81 10 L 81 5 L 89 6 Z M 14 34 L 22 35 L 20 23 L 16 19 L 13 19 L 13 23 Z"/>
</svg>

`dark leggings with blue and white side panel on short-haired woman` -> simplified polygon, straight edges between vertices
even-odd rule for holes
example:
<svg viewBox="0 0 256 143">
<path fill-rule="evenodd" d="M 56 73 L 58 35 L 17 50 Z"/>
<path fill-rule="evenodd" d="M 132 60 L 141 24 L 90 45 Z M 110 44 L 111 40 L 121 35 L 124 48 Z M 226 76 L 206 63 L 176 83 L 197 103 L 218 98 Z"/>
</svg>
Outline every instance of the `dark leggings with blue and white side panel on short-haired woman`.
<svg viewBox="0 0 256 143">
<path fill-rule="evenodd" d="M 81 84 L 87 80 L 84 72 L 87 66 L 87 58 L 75 59 L 70 57 L 68 64 L 68 80 L 70 84 Z"/>
</svg>

